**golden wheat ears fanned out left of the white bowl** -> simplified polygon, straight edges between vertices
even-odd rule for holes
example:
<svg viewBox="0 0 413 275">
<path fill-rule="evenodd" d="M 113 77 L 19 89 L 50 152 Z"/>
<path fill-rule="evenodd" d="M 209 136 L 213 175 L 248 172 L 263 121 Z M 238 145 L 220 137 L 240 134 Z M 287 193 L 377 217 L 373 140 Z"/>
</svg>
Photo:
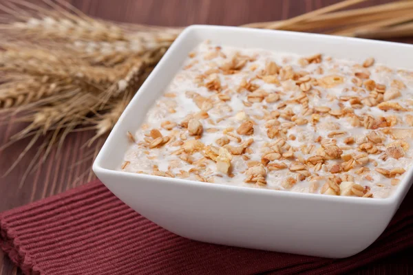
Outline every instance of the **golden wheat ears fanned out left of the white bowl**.
<svg viewBox="0 0 413 275">
<path fill-rule="evenodd" d="M 6 174 L 41 137 L 43 155 L 35 156 L 29 170 L 45 160 L 54 144 L 60 147 L 70 131 L 96 129 L 89 144 L 108 133 L 147 69 L 179 33 L 99 21 L 64 3 L 45 2 L 53 10 L 25 1 L 0 4 L 14 17 L 0 25 L 0 107 L 30 122 L 5 146 L 31 137 Z"/>
</svg>

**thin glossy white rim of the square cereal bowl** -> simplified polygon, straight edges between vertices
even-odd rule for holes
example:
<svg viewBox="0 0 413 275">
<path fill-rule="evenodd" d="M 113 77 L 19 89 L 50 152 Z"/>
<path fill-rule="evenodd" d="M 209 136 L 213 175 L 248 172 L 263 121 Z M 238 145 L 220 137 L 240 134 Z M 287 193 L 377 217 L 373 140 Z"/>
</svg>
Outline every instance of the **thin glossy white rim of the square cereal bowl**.
<svg viewBox="0 0 413 275">
<path fill-rule="evenodd" d="M 161 60 L 159 61 L 158 65 L 153 69 L 151 74 L 148 76 L 145 83 L 142 84 L 140 89 L 136 92 L 134 97 L 132 98 L 131 102 L 136 102 L 139 98 L 143 95 L 142 92 L 149 86 L 155 78 L 158 76 L 160 68 L 165 67 L 168 65 L 168 56 L 171 53 L 180 47 L 181 43 L 187 41 L 187 39 L 191 39 L 191 35 L 195 32 L 202 32 L 204 30 L 217 30 L 217 31 L 231 31 L 231 32 L 242 32 L 242 34 L 274 34 L 274 33 L 281 33 L 285 35 L 292 35 L 292 36 L 299 36 L 303 39 L 315 39 L 317 37 L 321 39 L 331 39 L 335 41 L 361 41 L 369 44 L 374 45 L 394 45 L 396 47 L 407 47 L 407 49 L 413 51 L 413 45 L 405 44 L 405 43 L 396 43 L 396 42 L 388 42 L 388 41 L 373 41 L 369 39 L 359 39 L 359 38 L 352 38 L 352 37 L 344 37 L 344 36 L 332 36 L 328 34 L 311 34 L 311 33 L 304 33 L 304 32 L 290 32 L 285 30 L 262 30 L 262 29 L 253 29 L 253 28 L 242 28 L 242 27 L 233 27 L 233 26 L 218 26 L 218 25 L 190 25 L 189 27 L 185 28 L 176 38 L 175 41 L 171 44 L 167 52 L 165 52 L 164 56 L 162 56 Z M 206 38 L 207 39 L 207 38 Z M 274 197 L 290 197 L 292 199 L 309 199 L 309 200 L 317 200 L 317 201 L 331 201 L 331 202 L 343 202 L 343 203 L 358 203 L 358 204 L 366 204 L 366 205 L 393 205 L 396 203 L 401 203 L 403 197 L 407 194 L 408 190 L 410 189 L 409 181 L 413 179 L 413 166 L 409 168 L 405 173 L 404 179 L 399 183 L 399 186 L 394 190 L 394 192 L 386 198 L 362 198 L 362 197 L 347 197 L 347 196 L 329 196 L 329 195 L 322 195 L 322 194 L 313 194 L 307 192 L 291 192 L 288 190 L 273 190 L 273 189 L 264 189 L 264 188 L 251 188 L 248 186 L 229 186 L 225 184 L 211 184 L 205 183 L 201 181 L 193 181 L 189 179 L 177 179 L 177 178 L 165 178 L 156 175 L 145 175 L 145 174 L 138 174 L 138 173 L 130 173 L 125 171 L 118 171 L 112 170 L 109 168 L 103 168 L 101 165 L 104 162 L 104 157 L 107 155 L 105 153 L 109 144 L 111 144 L 111 140 L 114 138 L 114 133 L 119 128 L 120 124 L 125 119 L 126 113 L 131 108 L 131 102 L 127 105 L 123 113 L 120 115 L 118 122 L 116 122 L 114 128 L 112 129 L 111 133 L 107 137 L 105 144 L 103 144 L 102 148 L 94 161 L 92 166 L 92 170 L 96 175 L 112 175 L 114 177 L 131 177 L 132 179 L 136 180 L 155 180 L 155 181 L 170 181 L 171 184 L 184 184 L 186 186 L 194 186 L 198 188 L 215 188 L 217 191 L 231 191 L 231 192 L 240 192 L 240 193 L 253 193 L 258 195 L 271 195 Z"/>
</svg>

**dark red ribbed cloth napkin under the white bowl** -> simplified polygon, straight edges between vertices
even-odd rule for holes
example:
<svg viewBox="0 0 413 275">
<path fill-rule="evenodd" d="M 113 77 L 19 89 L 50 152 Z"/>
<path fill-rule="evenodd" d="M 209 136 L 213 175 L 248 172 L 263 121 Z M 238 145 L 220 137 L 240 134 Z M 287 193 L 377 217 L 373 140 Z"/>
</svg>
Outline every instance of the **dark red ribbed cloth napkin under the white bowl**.
<svg viewBox="0 0 413 275">
<path fill-rule="evenodd" d="M 184 239 L 93 181 L 1 213 L 0 245 L 25 274 L 343 274 L 413 247 L 412 199 L 370 248 L 323 259 Z"/>
</svg>

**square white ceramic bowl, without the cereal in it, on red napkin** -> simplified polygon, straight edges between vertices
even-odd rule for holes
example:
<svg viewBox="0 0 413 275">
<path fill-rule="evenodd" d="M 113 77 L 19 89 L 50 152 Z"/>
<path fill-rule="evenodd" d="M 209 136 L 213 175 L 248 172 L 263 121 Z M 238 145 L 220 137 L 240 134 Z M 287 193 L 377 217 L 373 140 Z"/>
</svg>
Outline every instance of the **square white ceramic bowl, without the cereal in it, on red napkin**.
<svg viewBox="0 0 413 275">
<path fill-rule="evenodd" d="M 296 54 L 323 53 L 413 69 L 413 46 L 339 36 L 193 25 L 171 45 L 131 100 L 101 149 L 98 178 L 147 219 L 180 236 L 223 245 L 342 258 L 367 248 L 383 232 L 410 186 L 413 170 L 386 199 L 243 188 L 115 170 L 145 114 L 188 53 L 210 39 L 237 47 Z M 407 58 L 410 57 L 410 58 Z"/>
</svg>

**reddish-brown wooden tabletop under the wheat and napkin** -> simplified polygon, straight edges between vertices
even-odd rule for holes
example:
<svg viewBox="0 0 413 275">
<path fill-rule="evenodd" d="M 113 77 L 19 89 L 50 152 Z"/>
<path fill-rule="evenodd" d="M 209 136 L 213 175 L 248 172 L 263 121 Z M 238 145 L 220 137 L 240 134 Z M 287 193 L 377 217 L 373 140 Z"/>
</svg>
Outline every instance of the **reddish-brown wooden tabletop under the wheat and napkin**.
<svg viewBox="0 0 413 275">
<path fill-rule="evenodd" d="M 0 3 L 3 0 L 0 0 Z M 36 1 L 36 3 L 39 1 Z M 241 25 L 257 21 L 287 19 L 298 14 L 337 3 L 337 0 L 68 0 L 76 8 L 92 17 L 145 23 L 153 25 L 184 26 L 196 23 L 214 25 Z M 359 6 L 387 3 L 390 0 L 370 0 Z M 1 39 L 1 37 L 0 37 Z M 413 39 L 401 42 L 413 43 Z M 0 146 L 22 125 L 11 123 L 0 125 Z M 53 151 L 39 170 L 29 175 L 23 188 L 19 182 L 36 150 L 30 151 L 7 177 L 0 177 L 0 212 L 54 195 L 92 179 L 84 174 L 92 159 L 75 165 L 87 157 L 82 145 L 92 137 L 91 132 L 70 135 L 60 153 Z M 0 175 L 19 155 L 27 142 L 13 144 L 0 152 Z M 92 148 L 93 153 L 93 148 Z M 339 248 L 338 248 L 339 249 Z M 370 265 L 354 274 L 413 274 L 413 250 L 394 255 L 381 263 Z M 10 260 L 0 252 L 0 275 L 21 274 Z"/>
</svg>

